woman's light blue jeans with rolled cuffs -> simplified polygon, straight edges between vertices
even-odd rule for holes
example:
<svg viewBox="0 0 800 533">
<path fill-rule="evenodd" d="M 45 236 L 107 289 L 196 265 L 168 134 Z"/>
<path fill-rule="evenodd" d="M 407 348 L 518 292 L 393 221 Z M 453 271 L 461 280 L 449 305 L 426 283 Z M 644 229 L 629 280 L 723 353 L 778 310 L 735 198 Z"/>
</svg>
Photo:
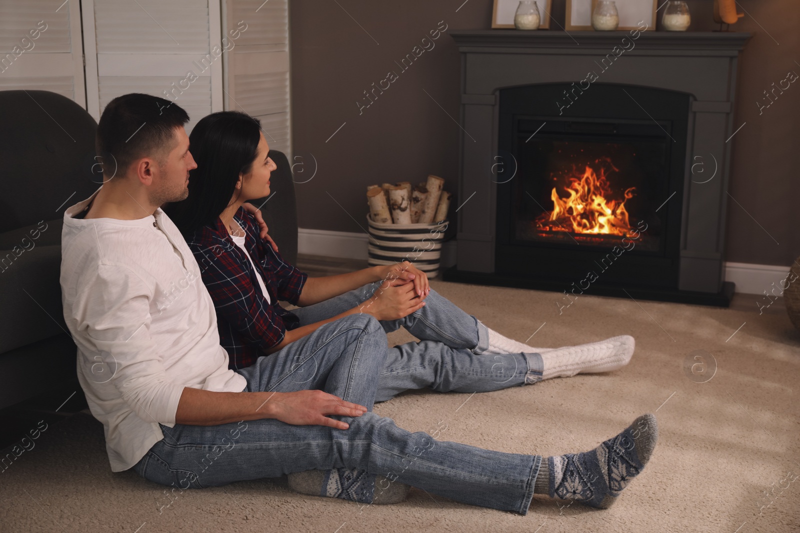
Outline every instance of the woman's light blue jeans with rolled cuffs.
<svg viewBox="0 0 800 533">
<path fill-rule="evenodd" d="M 292 312 L 300 318 L 301 326 L 326 320 L 366 301 L 380 284 L 368 283 Z M 380 320 L 385 332 L 402 326 L 421 341 L 389 348 L 378 380 L 376 402 L 390 400 L 409 389 L 489 392 L 542 379 L 542 356 L 538 353 L 479 355 L 489 348 L 485 325 L 433 288 L 425 302 L 408 316 Z"/>
</svg>

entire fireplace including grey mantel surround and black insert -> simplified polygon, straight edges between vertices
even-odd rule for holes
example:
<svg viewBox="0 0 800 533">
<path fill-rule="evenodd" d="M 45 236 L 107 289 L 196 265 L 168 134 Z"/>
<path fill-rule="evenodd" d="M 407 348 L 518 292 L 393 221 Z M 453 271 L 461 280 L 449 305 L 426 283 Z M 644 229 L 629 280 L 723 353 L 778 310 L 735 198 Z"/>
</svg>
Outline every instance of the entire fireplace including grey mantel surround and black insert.
<svg viewBox="0 0 800 533">
<path fill-rule="evenodd" d="M 726 190 L 750 34 L 450 36 L 462 132 L 456 264 L 444 280 L 730 303 Z M 713 179 L 692 179 L 698 162 Z"/>
</svg>

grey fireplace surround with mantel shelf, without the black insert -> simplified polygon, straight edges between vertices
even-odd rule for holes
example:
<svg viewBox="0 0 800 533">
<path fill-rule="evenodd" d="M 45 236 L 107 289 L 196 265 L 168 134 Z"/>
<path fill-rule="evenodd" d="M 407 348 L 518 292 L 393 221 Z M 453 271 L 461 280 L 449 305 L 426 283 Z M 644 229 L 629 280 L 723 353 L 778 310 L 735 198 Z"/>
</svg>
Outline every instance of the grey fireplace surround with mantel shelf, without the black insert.
<svg viewBox="0 0 800 533">
<path fill-rule="evenodd" d="M 556 82 L 576 86 L 582 82 L 586 87 L 587 72 L 594 71 L 597 82 L 604 84 L 691 95 L 676 289 L 722 291 L 727 186 L 740 126 L 734 117 L 737 65 L 750 34 L 646 30 L 633 35 L 632 31 L 450 30 L 462 59 L 458 197 L 466 203 L 458 209 L 456 265 L 445 279 L 466 280 L 458 272 L 478 277 L 494 272 L 497 183 L 491 165 L 498 154 L 498 90 Z M 565 97 L 560 105 L 568 102 Z M 644 117 L 646 109 L 642 111 Z M 706 172 L 693 175 L 692 165 L 698 161 Z"/>
</svg>

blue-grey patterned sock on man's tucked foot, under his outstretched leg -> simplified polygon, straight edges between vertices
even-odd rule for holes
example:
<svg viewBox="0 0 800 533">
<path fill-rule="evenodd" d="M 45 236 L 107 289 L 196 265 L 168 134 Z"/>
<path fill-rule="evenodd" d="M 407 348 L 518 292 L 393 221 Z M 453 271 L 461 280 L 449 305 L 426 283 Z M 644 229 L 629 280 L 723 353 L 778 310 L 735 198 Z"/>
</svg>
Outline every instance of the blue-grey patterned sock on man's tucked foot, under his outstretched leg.
<svg viewBox="0 0 800 533">
<path fill-rule="evenodd" d="M 289 475 L 289 487 L 301 494 L 375 504 L 400 503 L 411 488 L 357 468 L 293 472 Z"/>
</svg>

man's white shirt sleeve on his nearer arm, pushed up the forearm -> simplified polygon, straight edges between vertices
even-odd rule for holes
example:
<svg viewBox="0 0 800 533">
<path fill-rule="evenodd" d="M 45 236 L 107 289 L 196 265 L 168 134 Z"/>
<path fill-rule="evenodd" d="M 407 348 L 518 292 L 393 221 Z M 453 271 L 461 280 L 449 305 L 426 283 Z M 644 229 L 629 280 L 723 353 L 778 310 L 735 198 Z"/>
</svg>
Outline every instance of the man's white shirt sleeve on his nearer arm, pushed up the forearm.
<svg viewBox="0 0 800 533">
<path fill-rule="evenodd" d="M 86 342 L 102 354 L 102 361 L 95 356 L 90 365 L 93 369 L 104 365 L 110 374 L 104 378 L 139 418 L 174 424 L 184 387 L 166 376 L 158 346 L 150 337 L 150 288 L 123 265 L 98 265 L 82 286 L 74 318 L 78 330 L 86 333 Z M 98 381 L 97 374 L 86 377 Z"/>
</svg>

